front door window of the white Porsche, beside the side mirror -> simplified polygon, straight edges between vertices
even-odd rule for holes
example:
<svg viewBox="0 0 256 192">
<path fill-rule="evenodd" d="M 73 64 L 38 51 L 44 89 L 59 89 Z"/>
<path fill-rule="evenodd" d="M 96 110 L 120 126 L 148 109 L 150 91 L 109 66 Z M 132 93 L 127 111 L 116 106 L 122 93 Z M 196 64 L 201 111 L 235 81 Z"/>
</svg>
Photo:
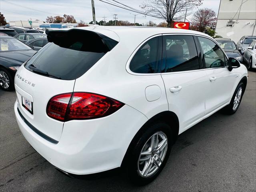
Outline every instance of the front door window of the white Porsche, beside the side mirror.
<svg viewBox="0 0 256 192">
<path fill-rule="evenodd" d="M 226 66 L 225 55 L 215 42 L 204 37 L 198 37 L 198 40 L 203 50 L 203 60 L 206 68 Z"/>
</svg>

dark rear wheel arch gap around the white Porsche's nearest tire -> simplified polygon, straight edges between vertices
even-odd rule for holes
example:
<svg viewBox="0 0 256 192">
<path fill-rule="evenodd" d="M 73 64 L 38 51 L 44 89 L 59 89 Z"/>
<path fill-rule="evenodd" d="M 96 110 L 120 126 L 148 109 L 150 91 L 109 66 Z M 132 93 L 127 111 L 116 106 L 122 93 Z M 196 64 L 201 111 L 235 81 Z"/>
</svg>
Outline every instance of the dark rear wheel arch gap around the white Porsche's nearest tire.
<svg viewBox="0 0 256 192">
<path fill-rule="evenodd" d="M 124 158 L 122 160 L 122 164 L 121 167 L 124 166 L 124 164 L 126 163 L 126 159 L 128 154 L 130 153 L 132 146 L 134 145 L 134 143 L 138 140 L 138 138 L 143 134 L 143 132 L 146 130 L 146 128 L 154 123 L 154 122 L 158 122 L 158 121 L 163 121 L 166 124 L 168 124 L 170 126 L 170 130 L 172 131 L 172 144 L 174 144 L 178 138 L 178 134 L 179 134 L 179 119 L 178 116 L 172 112 L 172 111 L 163 111 L 160 112 L 158 114 L 156 114 L 155 116 L 153 116 L 152 118 L 150 118 L 139 130 L 138 132 L 135 134 L 135 136 L 133 137 L 132 141 L 130 142 L 128 149 L 126 150 L 126 153 L 124 155 Z"/>
</svg>

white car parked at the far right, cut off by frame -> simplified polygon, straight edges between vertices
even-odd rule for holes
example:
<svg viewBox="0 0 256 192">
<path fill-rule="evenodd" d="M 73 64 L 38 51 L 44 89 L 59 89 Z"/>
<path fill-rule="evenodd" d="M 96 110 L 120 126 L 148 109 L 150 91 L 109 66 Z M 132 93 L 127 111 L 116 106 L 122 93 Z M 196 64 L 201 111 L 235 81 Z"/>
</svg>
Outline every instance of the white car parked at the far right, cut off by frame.
<svg viewBox="0 0 256 192">
<path fill-rule="evenodd" d="M 256 68 L 256 40 L 244 50 L 243 60 L 248 64 L 248 69 Z"/>
</svg>

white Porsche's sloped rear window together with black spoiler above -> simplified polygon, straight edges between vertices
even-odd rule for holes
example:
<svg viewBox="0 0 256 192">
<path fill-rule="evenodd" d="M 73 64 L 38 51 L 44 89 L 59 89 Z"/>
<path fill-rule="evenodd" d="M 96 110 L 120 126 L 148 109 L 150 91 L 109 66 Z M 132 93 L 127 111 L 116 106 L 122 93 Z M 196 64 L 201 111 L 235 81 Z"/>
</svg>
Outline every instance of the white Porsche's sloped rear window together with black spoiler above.
<svg viewBox="0 0 256 192">
<path fill-rule="evenodd" d="M 85 30 L 53 31 L 48 33 L 48 38 L 50 43 L 28 60 L 25 67 L 63 80 L 82 76 L 118 43 Z"/>
</svg>

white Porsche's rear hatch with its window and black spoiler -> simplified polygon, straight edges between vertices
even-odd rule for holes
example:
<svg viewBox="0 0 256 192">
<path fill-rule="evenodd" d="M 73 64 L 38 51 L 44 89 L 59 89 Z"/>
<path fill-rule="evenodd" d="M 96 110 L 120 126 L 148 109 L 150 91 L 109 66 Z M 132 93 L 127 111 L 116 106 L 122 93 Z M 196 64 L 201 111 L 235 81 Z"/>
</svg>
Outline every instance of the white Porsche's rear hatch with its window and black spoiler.
<svg viewBox="0 0 256 192">
<path fill-rule="evenodd" d="M 49 100 L 58 94 L 73 92 L 76 78 L 118 42 L 88 30 L 46 30 L 46 34 L 50 43 L 16 72 L 15 88 L 20 115 L 41 136 L 57 143 L 64 122 L 47 115 Z"/>
</svg>

